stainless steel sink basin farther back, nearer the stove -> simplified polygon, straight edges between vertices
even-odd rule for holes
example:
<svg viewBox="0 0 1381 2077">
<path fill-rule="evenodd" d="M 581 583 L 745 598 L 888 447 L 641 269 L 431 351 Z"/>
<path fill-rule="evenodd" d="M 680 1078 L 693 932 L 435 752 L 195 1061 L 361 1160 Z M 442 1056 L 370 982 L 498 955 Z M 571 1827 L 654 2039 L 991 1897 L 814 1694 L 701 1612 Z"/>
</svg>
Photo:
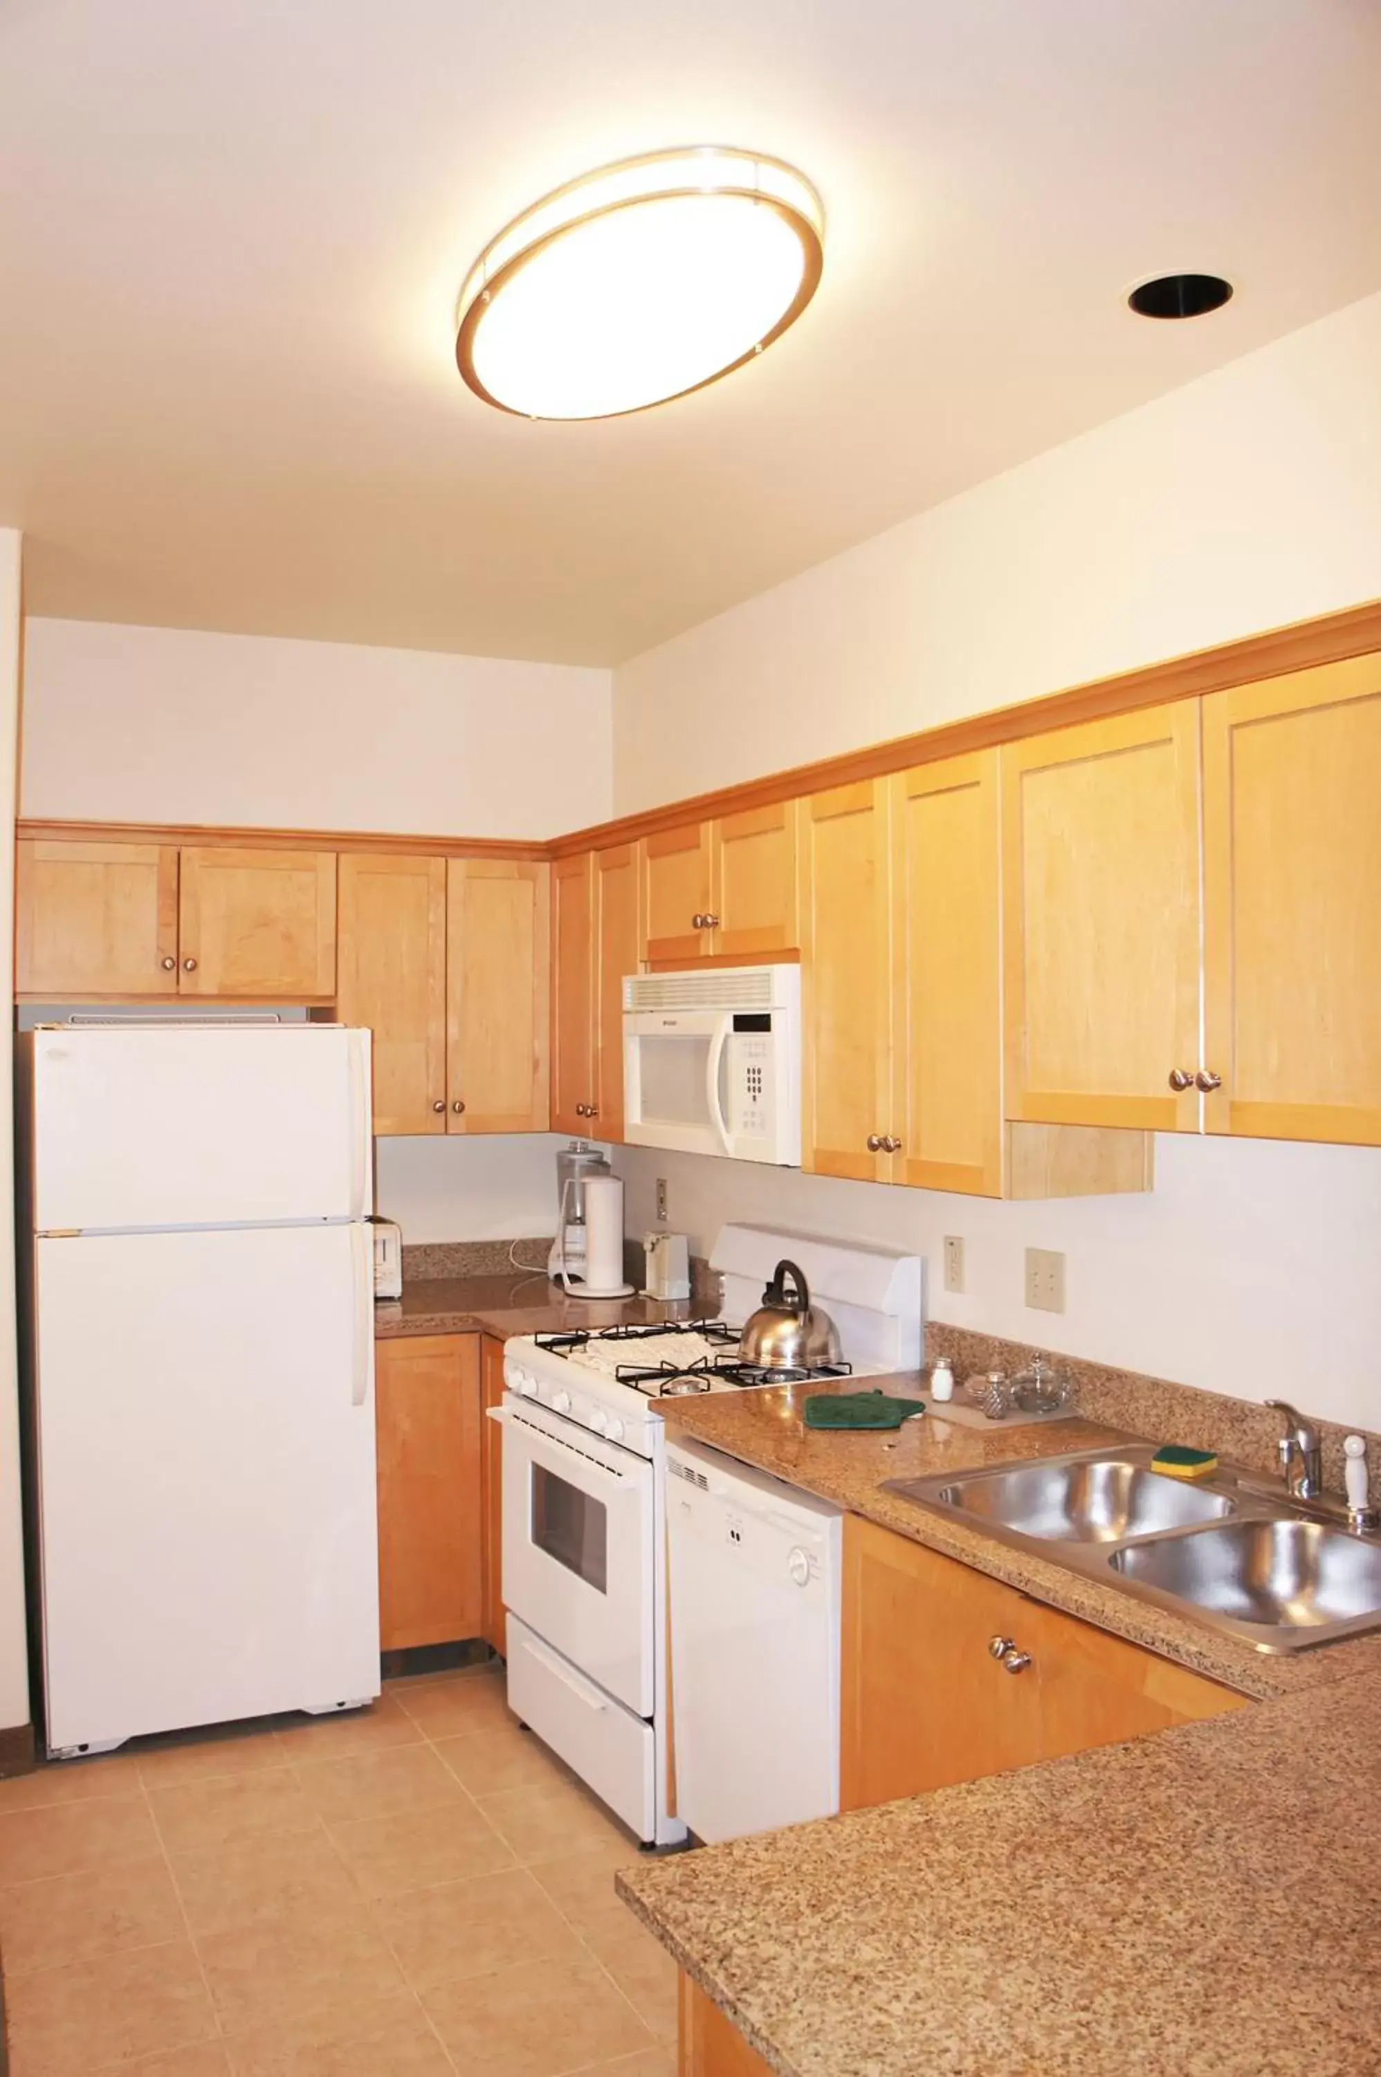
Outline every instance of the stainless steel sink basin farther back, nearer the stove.
<svg viewBox="0 0 1381 2077">
<path fill-rule="evenodd" d="M 1231 1500 L 1126 1458 L 1018 1464 L 935 1489 L 941 1506 L 984 1527 L 1051 1543 L 1123 1543 L 1231 1514 Z"/>
</svg>

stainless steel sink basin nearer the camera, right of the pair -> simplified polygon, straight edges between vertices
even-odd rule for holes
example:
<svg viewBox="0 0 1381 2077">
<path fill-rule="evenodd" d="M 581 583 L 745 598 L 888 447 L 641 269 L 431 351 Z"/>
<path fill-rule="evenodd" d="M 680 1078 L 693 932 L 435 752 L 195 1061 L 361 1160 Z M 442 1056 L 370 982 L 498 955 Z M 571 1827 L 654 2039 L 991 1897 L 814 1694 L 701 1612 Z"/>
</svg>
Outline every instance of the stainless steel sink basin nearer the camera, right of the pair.
<svg viewBox="0 0 1381 2077">
<path fill-rule="evenodd" d="M 1323 1522 L 1221 1522 L 1113 1552 L 1107 1562 L 1142 1587 L 1275 1630 L 1381 1614 L 1381 1545 Z"/>
</svg>

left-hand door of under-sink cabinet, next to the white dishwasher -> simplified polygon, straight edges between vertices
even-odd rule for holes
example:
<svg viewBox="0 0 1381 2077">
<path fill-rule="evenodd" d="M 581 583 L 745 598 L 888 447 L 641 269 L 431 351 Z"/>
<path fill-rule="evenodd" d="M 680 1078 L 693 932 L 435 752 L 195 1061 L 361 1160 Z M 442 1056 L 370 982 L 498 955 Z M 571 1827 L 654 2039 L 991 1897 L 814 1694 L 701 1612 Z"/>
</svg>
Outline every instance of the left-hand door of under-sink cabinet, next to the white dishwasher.
<svg viewBox="0 0 1381 2077">
<path fill-rule="evenodd" d="M 1032 1603 L 856 1514 L 843 1522 L 843 1809 L 1040 1759 L 1038 1684 L 989 1653 Z"/>
</svg>

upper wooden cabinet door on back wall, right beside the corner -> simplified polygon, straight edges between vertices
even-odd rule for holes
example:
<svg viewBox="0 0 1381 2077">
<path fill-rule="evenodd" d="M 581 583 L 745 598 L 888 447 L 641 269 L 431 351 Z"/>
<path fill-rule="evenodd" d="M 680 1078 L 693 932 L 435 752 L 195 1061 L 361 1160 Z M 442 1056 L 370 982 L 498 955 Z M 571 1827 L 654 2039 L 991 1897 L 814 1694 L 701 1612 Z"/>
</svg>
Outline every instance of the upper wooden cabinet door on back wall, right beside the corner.
<svg viewBox="0 0 1381 2077">
<path fill-rule="evenodd" d="M 449 1132 L 546 1132 L 546 897 L 548 868 L 532 860 L 446 866 Z"/>
</svg>

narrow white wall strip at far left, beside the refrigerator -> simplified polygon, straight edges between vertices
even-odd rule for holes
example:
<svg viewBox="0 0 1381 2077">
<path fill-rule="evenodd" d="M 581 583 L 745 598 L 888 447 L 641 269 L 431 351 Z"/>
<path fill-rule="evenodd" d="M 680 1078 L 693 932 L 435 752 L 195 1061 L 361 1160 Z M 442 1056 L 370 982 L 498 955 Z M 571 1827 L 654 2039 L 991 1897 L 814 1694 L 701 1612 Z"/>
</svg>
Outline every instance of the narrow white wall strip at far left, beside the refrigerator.
<svg viewBox="0 0 1381 2077">
<path fill-rule="evenodd" d="M 15 964 L 15 766 L 19 760 L 21 536 L 0 528 L 0 970 Z M 0 1088 L 12 1036 L 0 1028 Z M 15 1348 L 15 1122 L 0 1103 L 0 1728 L 29 1722 L 23 1504 L 19 1491 L 19 1356 Z"/>
</svg>

